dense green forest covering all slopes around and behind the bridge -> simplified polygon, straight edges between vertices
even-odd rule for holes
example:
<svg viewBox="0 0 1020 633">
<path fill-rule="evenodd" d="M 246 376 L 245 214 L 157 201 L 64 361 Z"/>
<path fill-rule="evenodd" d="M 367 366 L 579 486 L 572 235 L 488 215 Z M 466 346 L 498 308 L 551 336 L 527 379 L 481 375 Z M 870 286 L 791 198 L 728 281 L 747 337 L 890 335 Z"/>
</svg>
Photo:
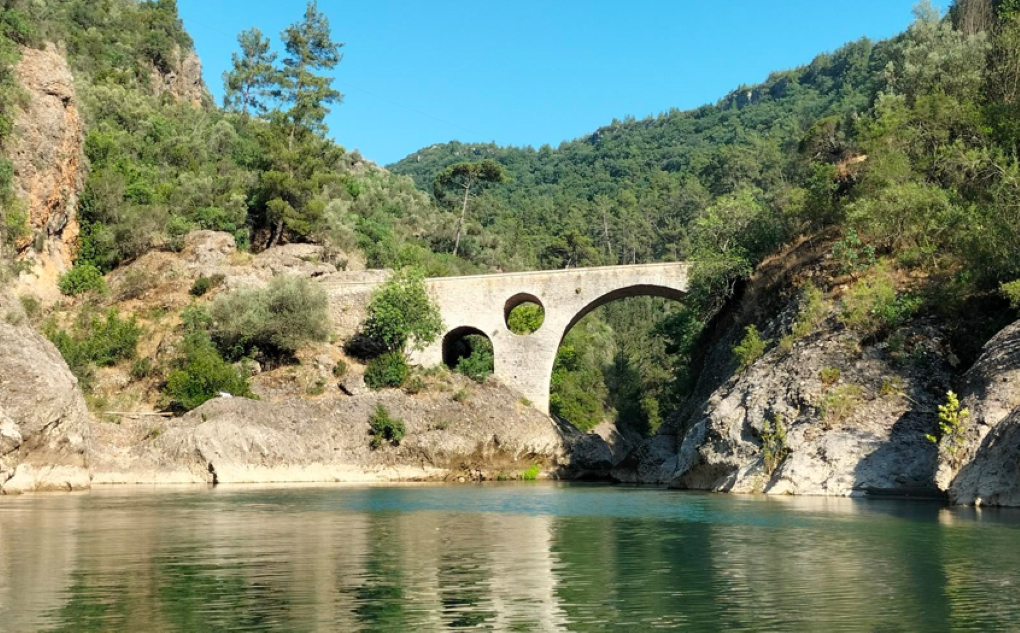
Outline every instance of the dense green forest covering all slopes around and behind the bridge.
<svg viewBox="0 0 1020 633">
<path fill-rule="evenodd" d="M 699 335 L 735 284 L 800 235 L 833 235 L 850 268 L 923 271 L 911 309 L 961 322 L 968 298 L 1020 277 L 1016 0 L 958 0 L 947 15 L 922 3 L 891 40 L 559 148 L 450 143 L 389 169 L 329 137 L 343 45 L 314 3 L 297 17 L 275 40 L 241 34 L 222 107 L 196 107 L 152 86 L 192 47 L 174 0 L 0 0 L 0 150 L 21 47 L 59 43 L 84 104 L 91 169 L 68 286 L 199 228 L 432 276 L 691 260 L 686 302 L 607 306 L 557 363 L 555 413 L 647 433 L 688 392 Z M 0 162 L 7 254 L 24 232 L 9 180 Z"/>
</svg>

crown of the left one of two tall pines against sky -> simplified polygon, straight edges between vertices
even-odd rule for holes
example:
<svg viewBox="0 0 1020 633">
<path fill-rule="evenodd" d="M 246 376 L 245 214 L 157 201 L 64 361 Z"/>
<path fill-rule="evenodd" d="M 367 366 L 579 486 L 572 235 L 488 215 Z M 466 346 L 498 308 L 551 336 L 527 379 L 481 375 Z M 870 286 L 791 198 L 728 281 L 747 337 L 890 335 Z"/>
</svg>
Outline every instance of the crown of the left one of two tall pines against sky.
<svg viewBox="0 0 1020 633">
<path fill-rule="evenodd" d="M 234 67 L 223 72 L 223 107 L 248 115 L 265 114 L 267 101 L 278 93 L 276 53 L 269 50 L 269 38 L 258 29 L 238 36 L 241 53 L 234 53 Z"/>
</svg>

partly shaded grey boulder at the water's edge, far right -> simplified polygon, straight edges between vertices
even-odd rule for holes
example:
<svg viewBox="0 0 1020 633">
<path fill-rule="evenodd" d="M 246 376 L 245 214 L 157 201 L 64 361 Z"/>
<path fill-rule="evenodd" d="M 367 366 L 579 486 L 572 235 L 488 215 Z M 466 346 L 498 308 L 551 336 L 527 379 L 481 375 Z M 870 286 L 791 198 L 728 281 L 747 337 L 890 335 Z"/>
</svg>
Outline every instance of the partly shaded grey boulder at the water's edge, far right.
<svg viewBox="0 0 1020 633">
<path fill-rule="evenodd" d="M 999 332 L 967 372 L 970 410 L 955 469 L 944 458 L 938 481 L 961 505 L 1020 506 L 1020 322 Z"/>
</svg>

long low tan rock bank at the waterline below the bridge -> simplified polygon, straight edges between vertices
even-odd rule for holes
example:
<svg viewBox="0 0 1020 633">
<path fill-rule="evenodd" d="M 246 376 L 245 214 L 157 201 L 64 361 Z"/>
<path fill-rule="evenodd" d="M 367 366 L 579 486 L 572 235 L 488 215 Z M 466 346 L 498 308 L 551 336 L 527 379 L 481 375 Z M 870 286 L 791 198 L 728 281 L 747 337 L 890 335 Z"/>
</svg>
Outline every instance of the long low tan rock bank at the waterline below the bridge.
<svg viewBox="0 0 1020 633">
<path fill-rule="evenodd" d="M 282 403 L 210 401 L 172 421 L 98 424 L 95 483 L 253 483 L 495 479 L 533 464 L 546 476 L 605 475 L 608 446 L 560 428 L 496 384 L 465 402 L 399 391 Z M 404 420 L 400 445 L 369 445 L 384 405 Z"/>
</svg>

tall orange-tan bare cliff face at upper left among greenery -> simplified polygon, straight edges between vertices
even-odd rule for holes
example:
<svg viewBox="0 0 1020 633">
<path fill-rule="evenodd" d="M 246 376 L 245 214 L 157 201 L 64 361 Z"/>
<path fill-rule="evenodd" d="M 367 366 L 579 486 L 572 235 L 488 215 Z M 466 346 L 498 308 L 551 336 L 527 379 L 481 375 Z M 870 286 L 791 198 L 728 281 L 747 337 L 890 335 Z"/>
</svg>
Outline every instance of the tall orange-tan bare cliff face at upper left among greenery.
<svg viewBox="0 0 1020 633">
<path fill-rule="evenodd" d="M 24 49 L 15 74 L 27 93 L 14 117 L 9 158 L 14 194 L 26 205 L 32 235 L 18 244 L 33 274 L 56 291 L 76 248 L 79 196 L 87 171 L 85 123 L 67 60 L 52 46 Z"/>
</svg>

